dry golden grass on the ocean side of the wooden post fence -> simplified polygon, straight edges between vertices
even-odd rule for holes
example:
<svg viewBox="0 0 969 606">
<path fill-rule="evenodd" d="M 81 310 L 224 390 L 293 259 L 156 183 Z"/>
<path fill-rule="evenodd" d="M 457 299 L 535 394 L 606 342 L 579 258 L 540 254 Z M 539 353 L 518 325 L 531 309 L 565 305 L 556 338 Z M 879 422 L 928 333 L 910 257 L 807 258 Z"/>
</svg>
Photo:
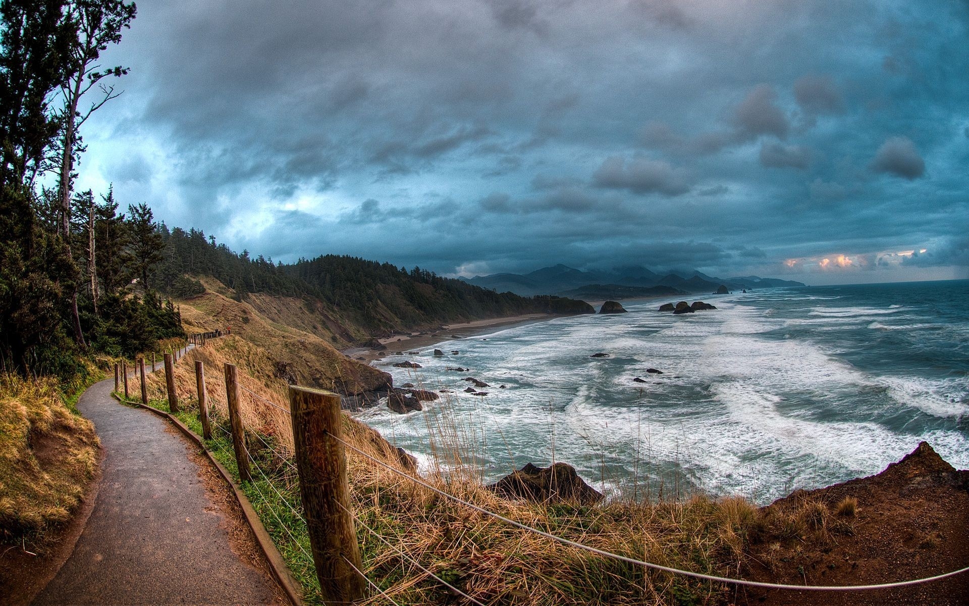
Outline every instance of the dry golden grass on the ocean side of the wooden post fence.
<svg viewBox="0 0 969 606">
<path fill-rule="evenodd" d="M 216 370 L 222 363 L 237 363 L 242 385 L 260 397 L 243 392 L 242 415 L 247 430 L 255 433 L 248 442 L 258 467 L 253 472 L 257 482 L 250 494 L 313 603 L 318 600 L 313 593 L 315 579 L 309 560 L 300 553 L 308 548 L 308 540 L 295 514 L 299 509 L 297 480 L 288 462 L 292 429 L 286 412 L 285 382 L 266 374 L 266 358 L 260 348 L 234 337 L 214 339 L 176 365 L 179 399 L 189 409 L 196 400 L 196 359 L 211 368 L 206 383 L 208 398 L 221 411 L 218 414 L 222 419 L 226 416 L 225 386 Z M 163 373 L 149 377 L 150 398 L 163 399 L 163 386 Z M 267 404 L 264 398 L 275 405 Z M 768 524 L 754 505 L 737 497 L 617 500 L 596 506 L 506 500 L 485 490 L 481 483 L 475 456 L 480 435 L 473 423 L 459 422 L 447 414 L 433 419 L 428 425 L 428 448 L 437 464 L 422 476 L 423 481 L 499 515 L 585 545 L 669 566 L 730 575 L 741 568 L 746 546 Z M 433 494 L 408 478 L 411 472 L 401 467 L 396 452 L 377 431 L 345 417 L 344 433 L 348 443 L 404 474 L 348 453 L 364 566 L 368 576 L 399 603 L 455 603 L 450 590 L 430 579 L 412 560 L 487 604 L 730 601 L 726 587 L 651 572 L 564 546 Z M 807 527 L 810 520 L 810 515 L 799 514 L 797 530 Z M 406 556 L 402 557 L 398 549 Z M 365 603 L 388 602 L 375 595 Z"/>
</svg>

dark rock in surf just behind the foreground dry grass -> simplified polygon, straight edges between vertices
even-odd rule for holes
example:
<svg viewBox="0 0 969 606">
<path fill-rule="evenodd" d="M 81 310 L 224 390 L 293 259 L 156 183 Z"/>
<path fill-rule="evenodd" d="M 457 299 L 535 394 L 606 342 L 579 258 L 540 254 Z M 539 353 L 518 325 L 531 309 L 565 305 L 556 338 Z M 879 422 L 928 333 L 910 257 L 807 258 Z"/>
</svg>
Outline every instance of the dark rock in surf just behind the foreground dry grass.
<svg viewBox="0 0 969 606">
<path fill-rule="evenodd" d="M 506 498 L 524 498 L 538 502 L 565 500 L 590 504 L 603 498 L 599 491 L 578 477 L 575 467 L 564 462 L 556 462 L 549 467 L 537 467 L 527 463 L 485 488 Z"/>
</svg>

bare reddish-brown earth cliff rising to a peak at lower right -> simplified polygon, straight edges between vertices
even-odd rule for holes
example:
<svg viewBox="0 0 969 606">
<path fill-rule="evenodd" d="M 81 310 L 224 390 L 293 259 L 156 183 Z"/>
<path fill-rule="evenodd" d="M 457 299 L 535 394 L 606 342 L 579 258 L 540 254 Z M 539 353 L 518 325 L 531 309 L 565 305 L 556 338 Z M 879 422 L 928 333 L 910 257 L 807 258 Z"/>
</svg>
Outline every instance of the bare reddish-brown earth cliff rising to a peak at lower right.
<svg viewBox="0 0 969 606">
<path fill-rule="evenodd" d="M 931 577 L 969 565 L 969 471 L 922 442 L 884 471 L 761 509 L 746 578 L 795 585 L 873 585 Z M 854 510 L 846 506 L 855 503 Z M 798 522 L 799 520 L 799 522 Z M 969 603 L 969 574 L 877 591 L 748 591 L 748 603 Z M 764 598 L 764 601 L 761 601 Z"/>
</svg>

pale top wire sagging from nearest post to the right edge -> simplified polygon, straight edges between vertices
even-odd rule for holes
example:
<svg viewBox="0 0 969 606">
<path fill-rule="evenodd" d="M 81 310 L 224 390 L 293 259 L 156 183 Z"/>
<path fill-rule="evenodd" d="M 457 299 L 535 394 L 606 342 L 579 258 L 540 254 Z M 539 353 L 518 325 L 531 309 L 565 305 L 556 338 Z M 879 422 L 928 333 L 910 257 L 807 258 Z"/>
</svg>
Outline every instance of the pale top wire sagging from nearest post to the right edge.
<svg viewBox="0 0 969 606">
<path fill-rule="evenodd" d="M 501 522 L 504 522 L 504 523 L 509 524 L 511 526 L 516 526 L 518 528 L 521 528 L 522 530 L 528 530 L 529 532 L 534 532 L 535 534 L 539 534 L 539 535 L 544 536 L 546 538 L 552 539 L 553 541 L 558 541 L 559 543 L 562 543 L 563 545 L 569 545 L 571 547 L 576 547 L 578 549 L 581 549 L 581 550 L 584 550 L 584 551 L 587 551 L 587 552 L 590 552 L 590 553 L 593 553 L 593 554 L 597 554 L 597 555 L 603 556 L 605 558 L 613 558 L 613 559 L 617 559 L 619 561 L 624 561 L 626 563 L 636 564 L 636 565 L 640 565 L 640 566 L 645 566 L 647 568 L 652 568 L 654 570 L 661 570 L 663 572 L 669 572 L 669 573 L 672 573 L 672 574 L 680 574 L 680 575 L 684 575 L 684 576 L 688 576 L 688 577 L 693 577 L 695 579 L 701 579 L 701 580 L 704 580 L 704 581 L 712 581 L 712 582 L 715 582 L 715 583 L 726 583 L 726 584 L 730 584 L 730 585 L 742 585 L 742 586 L 746 586 L 746 587 L 756 587 L 756 588 L 767 589 L 767 590 L 860 591 L 860 590 L 885 590 L 885 589 L 906 587 L 906 586 L 910 586 L 910 585 L 919 585 L 921 583 L 928 583 L 930 581 L 938 581 L 938 580 L 941 580 L 941 579 L 945 579 L 947 577 L 952 577 L 954 575 L 961 574 L 963 572 L 969 571 L 969 566 L 966 566 L 966 567 L 960 568 L 958 570 L 953 570 L 952 572 L 947 572 L 947 573 L 935 575 L 935 576 L 932 576 L 932 577 L 926 577 L 926 578 L 923 578 L 923 579 L 914 579 L 914 580 L 911 580 L 911 581 L 898 581 L 898 582 L 895 582 L 895 583 L 882 583 L 882 584 L 878 584 L 878 585 L 823 586 L 823 585 L 787 585 L 787 584 L 783 584 L 783 583 L 762 583 L 760 581 L 747 581 L 745 579 L 731 579 L 731 578 L 728 578 L 728 577 L 719 577 L 719 576 L 716 576 L 716 575 L 703 574 L 702 572 L 692 572 L 690 570 L 682 570 L 680 568 L 673 568 L 672 566 L 664 566 L 662 564 L 657 564 L 657 563 L 651 562 L 651 561 L 644 561 L 642 559 L 628 558 L 626 556 L 620 556 L 619 554 L 613 554 L 612 552 L 608 552 L 606 550 L 598 549 L 598 548 L 595 548 L 595 547 L 590 547 L 588 545 L 583 545 L 582 543 L 578 543 L 576 541 L 572 541 L 570 539 L 563 538 L 561 536 L 556 536 L 554 534 L 551 534 L 550 532 L 546 532 L 545 530 L 540 530 L 538 528 L 535 528 L 535 527 L 532 527 L 532 526 L 528 526 L 528 525 L 522 524 L 520 522 L 516 522 L 515 520 L 510 520 L 509 518 L 506 518 L 504 516 L 501 516 L 499 514 L 496 514 L 496 513 L 492 512 L 492 511 L 488 511 L 484 507 L 481 507 L 479 505 L 475 505 L 474 503 L 470 503 L 470 502 L 468 502 L 468 501 L 466 501 L 466 500 L 464 500 L 464 499 L 462 499 L 460 497 L 454 496 L 453 494 L 449 494 L 449 493 L 446 493 L 445 491 L 442 491 L 442 490 L 440 490 L 438 488 L 435 488 L 435 487 L 431 486 L 430 484 L 427 484 L 426 482 L 422 481 L 421 479 L 419 479 L 419 478 L 417 478 L 417 477 L 415 477 L 413 475 L 404 473 L 403 471 L 392 467 L 391 465 L 387 464 L 386 462 L 379 461 L 379 460 L 375 459 L 374 457 L 371 457 L 370 455 L 368 455 L 365 452 L 361 451 L 356 446 L 353 446 L 351 444 L 346 443 L 345 441 L 343 441 L 342 439 L 336 437 L 332 433 L 328 433 L 328 435 L 330 437 L 332 437 L 333 439 L 335 439 L 337 442 L 339 442 L 339 443 L 343 444 L 344 446 L 346 446 L 347 448 L 349 448 L 349 449 L 357 452 L 359 455 L 363 456 L 364 458 L 369 459 L 372 462 L 376 462 L 377 464 L 379 464 L 379 465 L 381 465 L 381 466 L 389 469 L 393 473 L 395 473 L 395 474 L 397 474 L 397 475 L 399 475 L 399 476 L 401 476 L 403 478 L 409 479 L 412 482 L 421 485 L 422 487 L 424 487 L 425 489 L 427 489 L 429 491 L 432 491 L 432 492 L 434 492 L 436 494 L 440 494 L 441 496 L 444 496 L 446 498 L 449 498 L 449 499 L 453 500 L 454 502 L 457 502 L 457 503 L 460 503 L 460 504 L 465 505 L 467 507 L 470 507 L 471 509 L 474 509 L 474 510 L 476 510 L 478 512 L 481 512 L 481 513 L 485 514 L 486 516 L 490 516 L 490 517 L 494 518 L 495 520 L 500 520 Z"/>
</svg>

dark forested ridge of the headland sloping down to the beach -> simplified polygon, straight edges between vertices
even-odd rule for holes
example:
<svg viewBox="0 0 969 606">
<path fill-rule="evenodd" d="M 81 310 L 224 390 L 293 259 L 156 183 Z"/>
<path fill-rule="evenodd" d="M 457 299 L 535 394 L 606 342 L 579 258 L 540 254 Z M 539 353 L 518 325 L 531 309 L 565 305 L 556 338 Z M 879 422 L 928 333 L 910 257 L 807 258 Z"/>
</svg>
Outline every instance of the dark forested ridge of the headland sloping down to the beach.
<svg viewBox="0 0 969 606">
<path fill-rule="evenodd" d="M 202 284 L 189 276 L 210 275 L 240 301 L 248 293 L 318 299 L 373 335 L 471 318 L 593 311 L 580 301 L 499 294 L 421 268 L 407 271 L 338 255 L 284 265 L 262 255 L 252 258 L 246 250 L 236 254 L 198 230 L 170 231 L 161 225 L 158 233 L 163 260 L 149 279 L 172 297 L 202 293 Z"/>
</svg>

